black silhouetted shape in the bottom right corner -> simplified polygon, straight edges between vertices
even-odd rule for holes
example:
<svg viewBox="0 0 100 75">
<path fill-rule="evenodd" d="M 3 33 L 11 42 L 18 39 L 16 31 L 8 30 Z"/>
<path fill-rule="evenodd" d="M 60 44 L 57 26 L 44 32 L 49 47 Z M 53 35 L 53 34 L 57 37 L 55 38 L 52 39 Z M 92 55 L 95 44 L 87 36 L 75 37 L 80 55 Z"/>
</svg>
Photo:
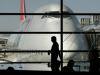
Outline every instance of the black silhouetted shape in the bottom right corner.
<svg viewBox="0 0 100 75">
<path fill-rule="evenodd" d="M 90 56 L 89 72 L 99 72 L 99 69 L 100 69 L 99 51 L 98 50 L 91 50 L 89 56 Z"/>
</svg>

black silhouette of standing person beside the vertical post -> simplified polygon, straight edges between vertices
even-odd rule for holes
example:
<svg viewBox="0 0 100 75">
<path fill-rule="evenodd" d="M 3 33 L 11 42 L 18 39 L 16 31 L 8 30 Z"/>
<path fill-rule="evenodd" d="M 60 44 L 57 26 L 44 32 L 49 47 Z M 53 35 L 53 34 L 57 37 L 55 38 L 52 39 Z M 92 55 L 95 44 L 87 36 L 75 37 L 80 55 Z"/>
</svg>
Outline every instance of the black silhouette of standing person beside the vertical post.
<svg viewBox="0 0 100 75">
<path fill-rule="evenodd" d="M 53 43 L 52 48 L 51 48 L 51 69 L 52 71 L 58 71 L 59 65 L 60 65 L 59 61 L 57 60 L 58 56 L 61 59 L 60 52 L 59 52 L 59 45 L 57 43 L 55 36 L 51 37 L 51 41 Z"/>
</svg>

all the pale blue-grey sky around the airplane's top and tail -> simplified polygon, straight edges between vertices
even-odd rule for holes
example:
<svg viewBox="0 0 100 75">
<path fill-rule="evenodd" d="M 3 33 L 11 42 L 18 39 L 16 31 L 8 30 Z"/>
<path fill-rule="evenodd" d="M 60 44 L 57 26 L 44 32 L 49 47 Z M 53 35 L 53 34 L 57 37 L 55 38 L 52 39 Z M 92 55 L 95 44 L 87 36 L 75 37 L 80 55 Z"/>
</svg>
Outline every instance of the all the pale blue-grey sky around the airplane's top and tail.
<svg viewBox="0 0 100 75">
<path fill-rule="evenodd" d="M 0 13 L 19 13 L 20 0 L 0 0 Z M 43 5 L 60 4 L 60 0 L 26 0 L 26 12 L 33 13 Z M 100 12 L 100 0 L 64 0 L 73 12 Z M 14 31 L 20 27 L 19 16 L 0 16 L 0 31 Z"/>
</svg>

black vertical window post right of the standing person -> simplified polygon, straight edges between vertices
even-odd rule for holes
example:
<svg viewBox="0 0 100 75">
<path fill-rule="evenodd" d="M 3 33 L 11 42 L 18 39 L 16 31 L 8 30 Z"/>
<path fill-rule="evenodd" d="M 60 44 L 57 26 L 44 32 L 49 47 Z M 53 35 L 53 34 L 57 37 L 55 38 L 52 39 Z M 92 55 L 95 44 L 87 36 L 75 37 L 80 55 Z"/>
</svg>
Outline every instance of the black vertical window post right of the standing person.
<svg viewBox="0 0 100 75">
<path fill-rule="evenodd" d="M 63 0 L 61 0 L 61 70 L 63 67 Z"/>
</svg>

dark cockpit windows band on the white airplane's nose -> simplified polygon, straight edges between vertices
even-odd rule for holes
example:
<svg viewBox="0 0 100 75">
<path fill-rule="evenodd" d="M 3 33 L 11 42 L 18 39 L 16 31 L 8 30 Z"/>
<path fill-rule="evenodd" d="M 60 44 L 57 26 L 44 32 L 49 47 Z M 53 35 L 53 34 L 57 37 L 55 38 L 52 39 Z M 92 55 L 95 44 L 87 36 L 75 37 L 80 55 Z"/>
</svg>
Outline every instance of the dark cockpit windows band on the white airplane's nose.
<svg viewBox="0 0 100 75">
<path fill-rule="evenodd" d="M 67 15 L 69 12 L 64 11 L 63 13 L 64 13 L 63 18 L 68 18 L 68 17 L 70 17 L 70 15 Z M 59 11 L 46 12 L 46 14 L 48 14 L 48 15 L 43 15 L 43 16 L 41 17 L 41 19 L 43 19 L 43 18 L 51 18 L 51 17 L 54 17 L 54 18 L 60 18 L 60 17 L 61 17 Z"/>
</svg>

